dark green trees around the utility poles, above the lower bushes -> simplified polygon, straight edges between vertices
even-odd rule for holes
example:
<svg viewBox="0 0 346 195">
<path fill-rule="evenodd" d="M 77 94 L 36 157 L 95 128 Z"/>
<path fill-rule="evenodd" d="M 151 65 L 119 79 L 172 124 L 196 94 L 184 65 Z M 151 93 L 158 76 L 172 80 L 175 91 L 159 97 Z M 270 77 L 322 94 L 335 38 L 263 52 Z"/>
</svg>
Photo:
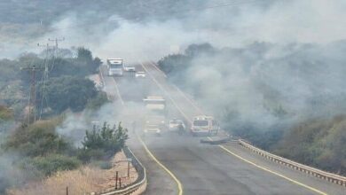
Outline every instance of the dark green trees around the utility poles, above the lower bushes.
<svg viewBox="0 0 346 195">
<path fill-rule="evenodd" d="M 51 116 L 52 113 L 59 114 L 67 109 L 74 112 L 80 112 L 86 107 L 97 109 L 106 103 L 106 94 L 98 91 L 94 83 L 86 79 L 90 74 L 98 74 L 101 60 L 93 58 L 91 51 L 83 47 L 60 51 L 68 55 L 56 57 L 52 55 L 53 51 L 43 51 L 51 55 L 43 58 L 28 53 L 17 59 L 0 60 L 0 105 L 11 108 L 17 119 L 24 117 L 31 77 L 28 71 L 21 68 L 30 66 L 41 69 L 36 72 L 36 109 L 43 110 L 43 115 Z M 43 79 L 45 66 L 49 71 L 49 79 L 46 81 Z"/>
</svg>

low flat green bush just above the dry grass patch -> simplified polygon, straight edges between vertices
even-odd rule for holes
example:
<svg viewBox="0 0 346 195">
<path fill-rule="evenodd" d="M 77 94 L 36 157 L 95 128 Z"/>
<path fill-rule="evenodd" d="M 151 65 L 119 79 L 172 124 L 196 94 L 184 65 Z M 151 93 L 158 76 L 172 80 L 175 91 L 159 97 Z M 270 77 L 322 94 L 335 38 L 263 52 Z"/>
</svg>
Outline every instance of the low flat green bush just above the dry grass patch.
<svg viewBox="0 0 346 195">
<path fill-rule="evenodd" d="M 72 170 L 78 168 L 81 161 L 75 157 L 68 157 L 60 154 L 35 157 L 24 162 L 24 168 L 35 168 L 43 175 L 52 175 L 57 171 Z"/>
</svg>

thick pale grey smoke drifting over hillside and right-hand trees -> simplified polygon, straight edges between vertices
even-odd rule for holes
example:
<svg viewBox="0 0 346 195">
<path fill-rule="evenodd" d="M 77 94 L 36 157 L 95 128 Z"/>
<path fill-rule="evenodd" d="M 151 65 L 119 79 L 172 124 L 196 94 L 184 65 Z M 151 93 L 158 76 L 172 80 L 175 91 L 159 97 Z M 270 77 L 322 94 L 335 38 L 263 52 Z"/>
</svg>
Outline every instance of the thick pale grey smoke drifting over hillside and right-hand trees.
<svg viewBox="0 0 346 195">
<path fill-rule="evenodd" d="M 204 107 L 207 113 L 222 118 L 226 112 L 258 129 L 343 113 L 342 0 L 208 1 L 187 4 L 186 10 L 165 7 L 174 14 L 163 18 L 159 5 L 151 17 L 146 11 L 136 13 L 138 20 L 115 13 L 91 26 L 86 21 L 95 21 L 92 12 L 83 20 L 69 12 L 39 40 L 64 36 L 64 46 L 83 44 L 101 58 L 122 57 L 127 63 L 183 52 L 191 43 L 211 43 L 217 52 L 193 58 L 181 85 L 199 90 L 201 105 L 212 105 Z"/>
</svg>

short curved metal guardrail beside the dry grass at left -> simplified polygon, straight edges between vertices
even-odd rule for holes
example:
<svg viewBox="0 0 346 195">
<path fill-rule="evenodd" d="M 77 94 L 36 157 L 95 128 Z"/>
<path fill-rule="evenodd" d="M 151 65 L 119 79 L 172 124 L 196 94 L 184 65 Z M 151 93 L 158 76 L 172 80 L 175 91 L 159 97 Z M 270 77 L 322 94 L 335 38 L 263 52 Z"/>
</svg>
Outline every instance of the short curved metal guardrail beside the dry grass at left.
<svg viewBox="0 0 346 195">
<path fill-rule="evenodd" d="M 122 186 L 119 189 L 113 189 L 113 190 L 107 190 L 107 191 L 101 191 L 98 193 L 94 193 L 95 195 L 127 195 L 131 194 L 135 191 L 138 191 L 139 188 L 144 187 L 146 188 L 146 171 L 145 167 L 142 165 L 142 163 L 137 159 L 135 154 L 133 154 L 132 151 L 128 147 L 124 147 L 123 152 L 125 153 L 125 156 L 128 159 L 131 159 L 132 166 L 136 169 L 138 173 L 138 178 L 134 183 L 131 183 L 130 185 Z M 144 190 L 145 191 L 145 190 Z"/>
</svg>

